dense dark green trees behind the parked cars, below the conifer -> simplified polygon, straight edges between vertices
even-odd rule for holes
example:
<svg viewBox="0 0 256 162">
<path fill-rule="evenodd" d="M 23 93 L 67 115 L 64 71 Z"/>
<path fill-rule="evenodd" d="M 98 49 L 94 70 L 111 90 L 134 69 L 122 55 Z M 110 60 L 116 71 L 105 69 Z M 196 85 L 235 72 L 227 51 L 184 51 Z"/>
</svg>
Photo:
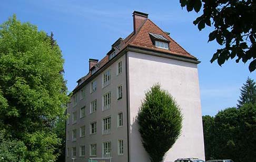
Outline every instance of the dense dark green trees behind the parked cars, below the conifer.
<svg viewBox="0 0 256 162">
<path fill-rule="evenodd" d="M 256 161 L 256 106 L 221 110 L 215 117 L 203 116 L 205 159 Z"/>
</svg>

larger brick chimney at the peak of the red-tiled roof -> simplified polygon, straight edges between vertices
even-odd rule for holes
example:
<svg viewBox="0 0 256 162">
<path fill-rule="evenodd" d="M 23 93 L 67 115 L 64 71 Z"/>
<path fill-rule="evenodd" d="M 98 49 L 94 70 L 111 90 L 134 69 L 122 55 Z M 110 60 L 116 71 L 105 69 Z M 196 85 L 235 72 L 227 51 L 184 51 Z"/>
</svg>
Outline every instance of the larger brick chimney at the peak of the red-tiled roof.
<svg viewBox="0 0 256 162">
<path fill-rule="evenodd" d="M 142 26 L 142 24 L 147 19 L 147 15 L 145 13 L 141 13 L 138 11 L 133 12 L 133 32 L 134 34 L 138 31 L 138 29 Z"/>
</svg>

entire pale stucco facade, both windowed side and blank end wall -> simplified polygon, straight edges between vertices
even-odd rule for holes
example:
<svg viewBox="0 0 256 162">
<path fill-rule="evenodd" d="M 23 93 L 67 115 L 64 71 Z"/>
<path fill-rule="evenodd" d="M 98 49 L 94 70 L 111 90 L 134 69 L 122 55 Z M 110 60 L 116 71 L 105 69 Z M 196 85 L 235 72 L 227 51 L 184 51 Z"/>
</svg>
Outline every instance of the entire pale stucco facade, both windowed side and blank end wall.
<svg viewBox="0 0 256 162">
<path fill-rule="evenodd" d="M 122 73 L 117 75 L 117 63 L 120 61 L 122 61 Z M 103 88 L 103 73 L 109 69 L 111 69 L 110 84 Z M 94 80 L 96 80 L 97 88 L 95 92 L 91 93 L 91 83 Z M 112 162 L 150 161 L 141 143 L 136 116 L 146 90 L 155 83 L 160 83 L 163 89 L 172 94 L 180 105 L 183 114 L 182 134 L 166 153 L 164 161 L 174 161 L 182 157 L 204 159 L 197 64 L 182 59 L 162 57 L 160 53 L 140 53 L 127 49 L 118 57 L 113 58 L 112 62 L 84 85 L 85 98 L 81 99 L 81 88 L 75 93 L 78 95 L 77 104 L 73 106 L 72 100 L 68 105 L 67 114 L 70 114 L 70 119 L 69 124 L 66 125 L 66 135 L 70 132 L 70 137 L 66 140 L 66 151 L 68 148 L 70 153 L 68 157 L 66 156 L 66 161 L 71 162 L 74 158 L 74 161 L 82 162 L 88 161 L 90 157 L 103 157 L 104 141 L 111 141 Z M 117 87 L 120 85 L 123 86 L 123 97 L 117 100 Z M 103 95 L 107 92 L 111 92 L 111 108 L 103 110 Z M 97 99 L 97 111 L 90 114 L 90 103 L 95 99 Z M 85 117 L 80 118 L 80 108 L 83 106 L 86 107 L 86 113 Z M 77 120 L 73 124 L 72 113 L 75 111 L 77 112 Z M 122 127 L 117 127 L 117 114 L 119 112 L 123 113 Z M 111 132 L 103 135 L 102 120 L 108 116 L 111 116 Z M 97 122 L 97 133 L 91 135 L 90 123 L 93 121 Z M 80 127 L 83 125 L 86 129 L 85 137 L 80 137 Z M 77 135 L 76 140 L 72 141 L 74 128 L 77 130 Z M 124 141 L 123 155 L 117 154 L 118 139 Z M 96 156 L 90 156 L 90 144 L 97 144 Z M 80 156 L 81 145 L 85 146 L 85 156 Z M 75 157 L 72 157 L 72 147 L 76 147 Z"/>
</svg>

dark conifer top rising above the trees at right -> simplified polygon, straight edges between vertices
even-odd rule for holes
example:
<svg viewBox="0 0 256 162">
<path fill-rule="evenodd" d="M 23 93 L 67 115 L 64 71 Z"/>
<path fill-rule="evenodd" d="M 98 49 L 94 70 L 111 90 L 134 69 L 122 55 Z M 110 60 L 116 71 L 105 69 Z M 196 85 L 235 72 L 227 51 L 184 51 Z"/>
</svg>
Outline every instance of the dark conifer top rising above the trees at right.
<svg viewBox="0 0 256 162">
<path fill-rule="evenodd" d="M 245 84 L 240 89 L 240 97 L 238 100 L 238 108 L 244 104 L 252 103 L 256 105 L 256 83 L 253 79 L 247 78 Z"/>
</svg>

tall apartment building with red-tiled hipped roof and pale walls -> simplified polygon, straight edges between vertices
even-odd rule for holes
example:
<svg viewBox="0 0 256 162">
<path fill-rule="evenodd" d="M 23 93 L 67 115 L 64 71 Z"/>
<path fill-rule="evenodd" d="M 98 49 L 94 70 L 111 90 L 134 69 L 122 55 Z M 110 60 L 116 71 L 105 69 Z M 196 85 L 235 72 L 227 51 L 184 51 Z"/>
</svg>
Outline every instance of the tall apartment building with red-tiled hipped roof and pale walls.
<svg viewBox="0 0 256 162">
<path fill-rule="evenodd" d="M 150 161 L 136 116 L 155 83 L 172 94 L 184 117 L 182 135 L 164 161 L 204 159 L 199 63 L 147 14 L 133 12 L 133 32 L 117 39 L 100 61 L 89 59 L 88 74 L 77 80 L 67 105 L 66 161 Z"/>
</svg>

